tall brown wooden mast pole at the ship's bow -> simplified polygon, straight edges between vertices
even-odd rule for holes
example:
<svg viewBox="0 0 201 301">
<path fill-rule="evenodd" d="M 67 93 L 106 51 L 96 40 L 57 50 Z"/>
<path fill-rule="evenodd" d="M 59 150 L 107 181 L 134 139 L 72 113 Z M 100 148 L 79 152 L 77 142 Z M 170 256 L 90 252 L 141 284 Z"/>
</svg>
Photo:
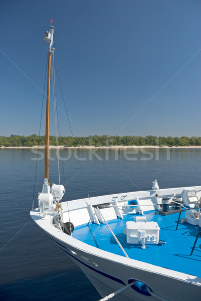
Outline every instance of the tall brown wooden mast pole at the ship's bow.
<svg viewBox="0 0 201 301">
<path fill-rule="evenodd" d="M 46 145 L 45 145 L 45 178 L 49 184 L 49 124 L 50 124 L 50 76 L 51 76 L 51 52 L 48 54 L 48 83 L 46 102 Z"/>
</svg>

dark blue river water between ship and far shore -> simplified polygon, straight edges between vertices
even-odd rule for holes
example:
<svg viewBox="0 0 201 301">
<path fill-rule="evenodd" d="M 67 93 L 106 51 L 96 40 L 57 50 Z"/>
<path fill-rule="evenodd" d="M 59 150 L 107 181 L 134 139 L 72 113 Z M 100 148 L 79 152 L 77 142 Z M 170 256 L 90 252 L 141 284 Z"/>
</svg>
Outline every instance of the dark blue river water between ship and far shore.
<svg viewBox="0 0 201 301">
<path fill-rule="evenodd" d="M 60 164 L 61 183 L 67 190 L 64 200 L 151 189 L 154 179 L 160 188 L 201 184 L 201 149 L 171 149 L 170 154 L 166 149 L 146 152 L 150 153 L 126 154 L 122 150 L 117 154 L 113 149 L 102 149 L 92 154 L 76 149 L 70 156 L 65 150 L 64 173 Z M 52 150 L 51 183 L 58 183 L 55 155 Z M 30 219 L 36 168 L 32 159 L 36 154 L 30 149 L 0 149 L 0 157 L 0 299 L 98 300 L 99 294 L 82 271 Z M 77 157 L 82 159 L 84 180 Z M 35 207 L 43 180 L 41 160 Z"/>
</svg>

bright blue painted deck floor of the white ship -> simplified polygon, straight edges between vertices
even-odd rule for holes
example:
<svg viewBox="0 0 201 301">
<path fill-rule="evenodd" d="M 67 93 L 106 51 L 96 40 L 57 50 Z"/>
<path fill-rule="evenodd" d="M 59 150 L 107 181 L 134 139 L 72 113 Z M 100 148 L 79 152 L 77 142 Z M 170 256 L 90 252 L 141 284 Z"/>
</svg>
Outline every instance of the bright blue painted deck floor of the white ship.
<svg viewBox="0 0 201 301">
<path fill-rule="evenodd" d="M 200 228 L 184 222 L 179 224 L 175 231 L 178 214 L 161 216 L 158 212 L 150 212 L 145 215 L 147 221 L 158 223 L 159 240 L 165 240 L 165 244 L 146 244 L 146 249 L 142 249 L 141 245 L 128 245 L 123 231 L 127 221 L 134 221 L 134 215 L 126 215 L 123 219 L 108 222 L 128 256 L 139 261 L 201 277 L 201 238 L 197 239 L 196 247 L 190 256 Z M 181 217 L 184 215 L 185 212 L 181 214 Z M 73 237 L 91 246 L 125 256 L 105 223 L 100 225 L 89 223 L 76 227 Z"/>
</svg>

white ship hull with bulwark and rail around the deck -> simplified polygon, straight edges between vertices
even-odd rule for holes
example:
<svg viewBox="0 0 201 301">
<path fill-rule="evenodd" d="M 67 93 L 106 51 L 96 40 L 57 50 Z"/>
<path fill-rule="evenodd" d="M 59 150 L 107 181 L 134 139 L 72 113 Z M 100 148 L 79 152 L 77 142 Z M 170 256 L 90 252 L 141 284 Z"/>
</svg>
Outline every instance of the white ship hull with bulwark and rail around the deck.
<svg viewBox="0 0 201 301">
<path fill-rule="evenodd" d="M 201 186 L 162 189 L 157 190 L 157 194 L 161 198 L 170 197 L 173 194 L 182 195 L 183 200 L 187 202 L 186 192 L 188 190 L 196 191 L 198 199 L 201 198 Z M 154 211 L 155 206 L 158 206 L 155 203 L 155 191 L 94 197 L 90 199 L 91 205 L 88 204 L 88 199 L 74 200 L 62 203 L 63 213 L 66 213 L 66 215 L 64 214 L 65 222 L 70 220 L 70 216 L 75 227 L 87 225 L 89 221 L 94 223 L 96 221 L 92 205 L 112 203 L 117 198 L 119 199 L 118 205 L 121 207 L 124 206 L 126 199 L 134 200 L 136 198 L 139 200 L 139 207 L 140 204 L 145 206 L 143 207 L 144 211 Z M 188 203 L 184 205 L 193 206 Z M 165 264 L 163 267 L 161 262 L 158 265 L 147 263 L 152 262 L 151 258 L 146 260 L 147 262 L 139 261 L 139 258 L 134 258 L 133 254 L 130 256 L 131 258 L 127 258 L 65 234 L 52 223 L 52 218 L 55 216 L 54 209 L 50 210 L 45 217 L 40 213 L 39 208 L 31 211 L 30 214 L 36 224 L 81 268 L 102 297 L 126 287 L 112 299 L 123 301 L 200 299 L 201 278 L 177 271 L 176 260 L 172 262 L 171 269 L 168 269 L 165 268 Z M 184 252 L 184 250 L 182 251 Z M 185 256 L 185 252 L 183 255 Z M 196 256 L 192 260 L 196 260 L 198 269 L 199 257 Z M 194 270 L 194 273 L 199 274 L 197 270 Z M 136 283 L 127 287 L 133 281 Z"/>
</svg>

